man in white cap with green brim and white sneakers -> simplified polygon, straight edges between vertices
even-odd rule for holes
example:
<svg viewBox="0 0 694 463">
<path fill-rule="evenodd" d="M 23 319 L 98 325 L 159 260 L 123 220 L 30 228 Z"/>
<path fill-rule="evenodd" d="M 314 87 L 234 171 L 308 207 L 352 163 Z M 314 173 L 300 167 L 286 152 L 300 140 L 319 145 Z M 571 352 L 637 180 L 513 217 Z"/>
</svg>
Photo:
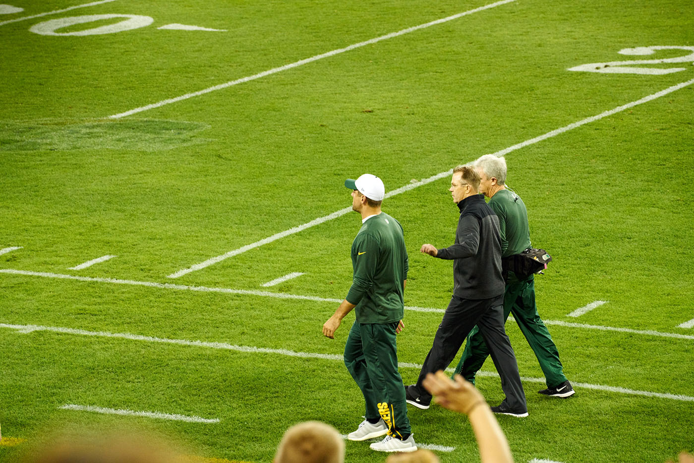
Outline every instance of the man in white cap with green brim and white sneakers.
<svg viewBox="0 0 694 463">
<path fill-rule="evenodd" d="M 347 438 L 365 441 L 387 435 L 371 448 L 414 452 L 396 346 L 396 334 L 403 329 L 408 269 L 403 227 L 381 212 L 385 188 L 380 178 L 364 174 L 346 180 L 345 186 L 353 190 L 352 209 L 362 215 L 362 228 L 352 243 L 352 286 L 323 325 L 323 335 L 334 339 L 342 319 L 355 309 L 344 361 L 364 394 L 366 419 Z"/>
</svg>

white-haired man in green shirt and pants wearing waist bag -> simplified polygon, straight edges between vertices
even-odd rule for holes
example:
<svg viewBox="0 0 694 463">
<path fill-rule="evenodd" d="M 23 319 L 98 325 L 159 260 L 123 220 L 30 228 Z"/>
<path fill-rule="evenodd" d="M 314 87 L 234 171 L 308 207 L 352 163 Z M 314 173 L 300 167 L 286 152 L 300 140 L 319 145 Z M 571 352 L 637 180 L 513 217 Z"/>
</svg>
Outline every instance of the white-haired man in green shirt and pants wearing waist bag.
<svg viewBox="0 0 694 463">
<path fill-rule="evenodd" d="M 477 159 L 474 165 L 480 174 L 480 192 L 489 198 L 489 207 L 499 217 L 502 260 L 522 253 L 531 247 L 527 210 L 521 197 L 505 185 L 506 160 L 487 154 Z M 512 268 L 509 268 L 504 290 L 504 321 L 510 312 L 513 312 L 516 323 L 545 373 L 547 389 L 542 389 L 539 393 L 560 398 L 573 395 L 575 391 L 564 376 L 557 346 L 537 312 L 534 276 L 518 278 Z M 475 373 L 482 368 L 487 355 L 489 348 L 484 343 L 480 330 L 475 327 L 468 335 L 455 373 L 460 373 L 466 380 L 474 383 Z"/>
</svg>

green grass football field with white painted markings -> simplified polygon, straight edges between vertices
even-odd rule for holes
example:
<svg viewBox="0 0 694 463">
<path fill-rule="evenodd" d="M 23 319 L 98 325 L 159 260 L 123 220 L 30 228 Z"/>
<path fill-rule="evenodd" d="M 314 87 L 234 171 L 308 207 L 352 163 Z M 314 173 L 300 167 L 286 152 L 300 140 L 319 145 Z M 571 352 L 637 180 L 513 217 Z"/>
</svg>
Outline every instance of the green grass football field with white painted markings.
<svg viewBox="0 0 694 463">
<path fill-rule="evenodd" d="M 80 5 L 11 1 L 0 5 L 0 462 L 55 429 L 153 430 L 244 462 L 269 462 L 298 421 L 354 430 L 363 403 L 340 360 L 354 316 L 335 340 L 321 327 L 350 286 L 359 217 L 278 234 L 347 208 L 344 178 L 410 185 L 383 205 L 405 228 L 405 304 L 441 310 L 452 266 L 418 250 L 452 242 L 445 173 L 506 149 L 533 244 L 554 258 L 538 305 L 577 391 L 536 394 L 542 372 L 509 321 L 530 412 L 499 419 L 516 462 L 694 451 L 691 2 L 112 0 L 61 12 Z M 121 16 L 66 19 L 86 15 Z M 119 31 L 126 20 L 141 22 Z M 646 68 L 681 70 L 636 74 Z M 73 269 L 105 255 L 116 257 Z M 593 301 L 608 302 L 568 317 Z M 405 310 L 400 362 L 423 362 L 440 319 Z M 491 362 L 483 371 L 477 387 L 496 405 L 500 381 Z M 411 384 L 418 369 L 400 373 Z M 442 462 L 479 460 L 464 416 L 432 406 L 409 419 Z M 385 459 L 366 443 L 346 451 Z"/>
</svg>

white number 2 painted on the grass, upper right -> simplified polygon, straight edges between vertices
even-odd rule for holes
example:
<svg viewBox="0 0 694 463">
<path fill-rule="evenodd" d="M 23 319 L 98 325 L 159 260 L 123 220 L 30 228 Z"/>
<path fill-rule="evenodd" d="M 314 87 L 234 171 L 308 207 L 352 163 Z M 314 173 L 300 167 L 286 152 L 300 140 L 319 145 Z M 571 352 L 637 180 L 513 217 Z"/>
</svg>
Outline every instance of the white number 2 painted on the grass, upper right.
<svg viewBox="0 0 694 463">
<path fill-rule="evenodd" d="M 568 68 L 569 71 L 600 72 L 602 74 L 650 74 L 658 76 L 671 74 L 672 72 L 685 71 L 686 67 L 634 67 L 635 65 L 660 65 L 670 62 L 694 62 L 694 47 L 657 45 L 654 47 L 625 48 L 618 51 L 620 55 L 648 56 L 658 50 L 686 50 L 689 53 L 685 56 L 676 58 L 663 58 L 661 60 L 629 60 L 629 61 L 610 61 L 610 62 L 590 62 L 587 65 L 580 65 Z"/>
</svg>

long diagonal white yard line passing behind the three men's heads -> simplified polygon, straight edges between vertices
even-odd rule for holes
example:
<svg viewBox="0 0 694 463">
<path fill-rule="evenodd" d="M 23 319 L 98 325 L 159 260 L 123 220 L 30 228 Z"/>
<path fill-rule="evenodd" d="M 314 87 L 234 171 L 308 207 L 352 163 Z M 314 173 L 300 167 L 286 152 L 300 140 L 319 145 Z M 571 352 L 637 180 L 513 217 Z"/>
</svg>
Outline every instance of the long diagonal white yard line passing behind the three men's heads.
<svg viewBox="0 0 694 463">
<path fill-rule="evenodd" d="M 622 105 L 622 106 L 617 106 L 616 108 L 613 108 L 609 111 L 601 112 L 599 115 L 586 117 L 586 119 L 582 119 L 580 121 L 574 122 L 573 124 L 568 124 L 568 126 L 557 128 L 556 130 L 545 133 L 544 135 L 540 135 L 539 137 L 534 137 L 534 138 L 531 138 L 530 140 L 525 140 L 525 142 L 514 144 L 513 146 L 509 146 L 506 149 L 502 149 L 501 151 L 497 151 L 496 153 L 493 153 L 493 155 L 502 156 L 502 155 L 508 154 L 511 151 L 516 151 L 516 149 L 521 149 L 521 148 L 528 146 L 530 144 L 534 144 L 537 142 L 541 142 L 542 140 L 546 140 L 548 138 L 555 137 L 555 136 L 559 135 L 560 133 L 564 133 L 564 132 L 573 130 L 574 128 L 583 126 L 585 124 L 589 124 L 591 122 L 597 121 L 597 120 L 602 119 L 604 117 L 611 116 L 613 114 L 616 114 L 617 112 L 627 110 L 629 108 L 633 108 L 634 106 L 640 105 L 642 103 L 648 103 L 648 101 L 652 101 L 654 99 L 660 98 L 661 96 L 664 96 L 668 93 L 675 92 L 676 90 L 684 88 L 687 85 L 691 85 L 693 83 L 694 83 L 694 79 L 692 79 L 691 81 L 679 83 L 677 85 L 672 85 L 672 87 L 668 87 L 665 90 L 661 90 L 660 92 L 657 92 L 657 93 L 654 93 L 654 94 L 651 94 L 648 96 L 644 96 L 642 99 L 632 101 L 631 103 L 627 103 L 627 104 Z M 444 177 L 450 176 L 450 174 L 452 174 L 452 172 L 453 172 L 453 169 L 448 169 L 447 171 L 443 171 L 443 172 L 436 174 L 434 176 L 431 176 L 429 178 L 425 178 L 424 180 L 421 180 L 419 182 L 409 183 L 408 185 L 404 185 L 403 187 L 400 187 L 397 190 L 393 190 L 391 192 L 388 192 L 384 197 L 389 198 L 389 197 L 394 196 L 396 194 L 400 194 L 400 193 L 412 190 L 416 187 L 421 187 L 422 185 L 427 185 L 428 183 L 432 183 L 435 180 L 439 180 L 439 178 L 444 178 Z M 285 230 L 283 232 L 276 233 L 275 235 L 261 239 L 260 241 L 257 241 L 255 243 L 246 244 L 246 246 L 242 246 L 241 248 L 235 249 L 234 251 L 229 251 L 228 253 L 218 255 L 217 257 L 210 258 L 208 260 L 205 260 L 204 262 L 200 262 L 199 264 L 194 264 L 191 267 L 188 267 L 187 269 L 181 269 L 179 271 L 176 271 L 175 273 L 171 273 L 171 275 L 168 275 L 167 277 L 168 278 L 178 278 L 180 276 L 185 275 L 186 273 L 190 273 L 192 271 L 204 269 L 205 267 L 209 267 L 212 264 L 216 264 L 217 262 L 221 262 L 222 260 L 224 260 L 226 258 L 230 258 L 234 255 L 245 253 L 246 251 L 250 251 L 251 249 L 255 249 L 255 248 L 262 246 L 264 244 L 271 243 L 273 241 L 276 241 L 277 239 L 284 238 L 284 237 L 287 237 L 289 235 L 293 235 L 294 233 L 298 233 L 298 232 L 305 230 L 307 228 L 310 228 L 312 226 L 323 224 L 323 222 L 325 222 L 325 221 L 337 219 L 337 217 L 341 217 L 342 215 L 347 214 L 351 210 L 352 210 L 352 208 L 349 207 L 349 208 L 344 208 L 344 209 L 338 210 L 336 212 L 332 212 L 332 214 L 328 214 L 328 215 L 325 215 L 323 217 L 319 217 L 318 219 L 314 219 L 310 222 L 307 222 L 306 224 L 296 226 L 294 228 L 289 228 L 289 230 Z"/>
</svg>

